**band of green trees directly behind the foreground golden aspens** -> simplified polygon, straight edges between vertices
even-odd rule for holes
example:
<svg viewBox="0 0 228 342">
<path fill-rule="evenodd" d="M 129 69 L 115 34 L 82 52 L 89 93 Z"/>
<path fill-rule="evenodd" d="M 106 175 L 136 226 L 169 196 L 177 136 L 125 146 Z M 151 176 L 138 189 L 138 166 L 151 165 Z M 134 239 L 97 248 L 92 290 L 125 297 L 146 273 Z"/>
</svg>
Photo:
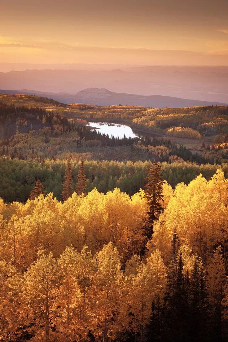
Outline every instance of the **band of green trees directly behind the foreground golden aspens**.
<svg viewBox="0 0 228 342">
<path fill-rule="evenodd" d="M 79 159 L 72 160 L 73 190 L 78 179 Z M 164 179 L 174 188 L 178 183 L 189 184 L 200 173 L 209 180 L 215 173 L 217 165 L 198 165 L 196 163 L 178 161 L 162 162 Z M 144 189 L 145 177 L 151 167 L 151 161 L 95 161 L 85 160 L 87 190 L 95 187 L 107 193 L 115 187 L 129 195 Z M 228 178 L 228 164 L 219 166 Z M 49 160 L 43 162 L 19 160 L 0 157 L 0 197 L 5 202 L 25 202 L 29 198 L 37 179 L 41 180 L 47 193 L 52 192 L 58 200 L 62 199 L 62 183 L 66 169 L 66 160 Z"/>
</svg>

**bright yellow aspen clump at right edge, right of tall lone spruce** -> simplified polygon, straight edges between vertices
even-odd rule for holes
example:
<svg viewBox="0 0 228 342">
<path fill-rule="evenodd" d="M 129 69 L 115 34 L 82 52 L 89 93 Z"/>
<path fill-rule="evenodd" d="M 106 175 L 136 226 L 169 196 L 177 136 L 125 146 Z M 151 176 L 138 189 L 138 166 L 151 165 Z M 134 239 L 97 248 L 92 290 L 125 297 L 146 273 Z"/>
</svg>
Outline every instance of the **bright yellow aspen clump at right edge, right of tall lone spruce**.
<svg viewBox="0 0 228 342">
<path fill-rule="evenodd" d="M 184 270 L 191 264 L 187 254 L 198 253 L 204 264 L 213 256 L 215 244 L 227 237 L 226 198 L 227 181 L 219 170 L 210 181 L 200 174 L 188 186 L 183 183 L 176 186 L 155 223 L 152 237 L 165 262 L 170 255 L 174 229 L 183 245 Z"/>
</svg>

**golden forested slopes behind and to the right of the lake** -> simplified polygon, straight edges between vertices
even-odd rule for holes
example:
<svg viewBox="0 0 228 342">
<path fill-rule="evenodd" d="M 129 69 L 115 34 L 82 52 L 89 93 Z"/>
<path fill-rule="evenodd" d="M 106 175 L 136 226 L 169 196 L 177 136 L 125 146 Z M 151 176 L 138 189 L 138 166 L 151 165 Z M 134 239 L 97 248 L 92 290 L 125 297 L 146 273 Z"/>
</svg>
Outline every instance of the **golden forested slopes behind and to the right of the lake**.
<svg viewBox="0 0 228 342">
<path fill-rule="evenodd" d="M 78 117 L 128 119 L 135 127 L 147 128 L 151 132 L 167 133 L 178 128 L 176 136 L 200 137 L 200 134 L 228 132 L 228 106 L 199 106 L 184 108 L 145 108 L 137 106 L 109 106 L 86 108 L 72 105 Z M 180 131 L 180 128 L 191 128 Z"/>
</svg>

